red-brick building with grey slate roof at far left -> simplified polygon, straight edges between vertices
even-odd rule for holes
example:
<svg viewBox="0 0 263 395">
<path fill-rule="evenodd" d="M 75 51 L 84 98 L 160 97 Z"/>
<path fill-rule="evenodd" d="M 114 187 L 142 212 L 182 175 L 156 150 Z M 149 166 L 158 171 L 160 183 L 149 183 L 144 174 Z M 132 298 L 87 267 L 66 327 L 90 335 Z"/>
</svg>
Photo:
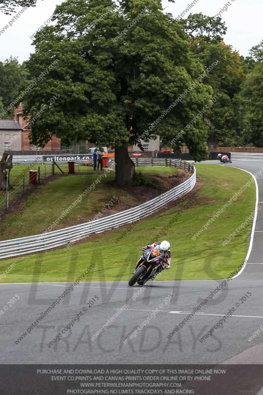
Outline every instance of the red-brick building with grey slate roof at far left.
<svg viewBox="0 0 263 395">
<path fill-rule="evenodd" d="M 31 129 L 27 128 L 29 120 L 30 117 L 27 119 L 23 117 L 22 103 L 15 109 L 14 119 L 0 119 L 0 153 L 4 151 L 61 150 L 61 141 L 55 135 L 52 136 L 44 148 L 38 148 L 30 144 L 29 133 Z"/>
</svg>

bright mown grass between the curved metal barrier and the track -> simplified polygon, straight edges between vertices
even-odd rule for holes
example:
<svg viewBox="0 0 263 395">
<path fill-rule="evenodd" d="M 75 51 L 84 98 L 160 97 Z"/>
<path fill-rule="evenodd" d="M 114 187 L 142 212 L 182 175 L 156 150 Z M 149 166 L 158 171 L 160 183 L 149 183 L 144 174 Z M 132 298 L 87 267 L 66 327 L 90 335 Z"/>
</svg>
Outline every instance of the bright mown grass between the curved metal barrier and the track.
<svg viewBox="0 0 263 395">
<path fill-rule="evenodd" d="M 12 270 L 3 282 L 74 281 L 95 262 L 86 280 L 126 281 L 133 273 L 142 245 L 161 239 L 171 242 L 172 268 L 158 280 L 221 279 L 245 259 L 255 208 L 255 186 L 246 189 L 196 239 L 192 237 L 237 192 L 251 176 L 239 169 L 197 165 L 195 195 L 174 202 L 172 207 L 130 227 L 90 237 L 71 248 L 62 248 L 0 262 L 0 273 Z M 149 169 L 147 169 L 149 171 Z M 190 203 L 190 204 L 189 204 Z M 173 220 L 176 219 L 176 220 Z M 236 237 L 222 242 L 246 222 Z M 118 242 L 118 238 L 122 239 Z M 156 240 L 158 239 L 158 240 Z M 14 266 L 15 265 L 15 266 Z M 34 275 L 38 268 L 38 275 Z"/>
</svg>

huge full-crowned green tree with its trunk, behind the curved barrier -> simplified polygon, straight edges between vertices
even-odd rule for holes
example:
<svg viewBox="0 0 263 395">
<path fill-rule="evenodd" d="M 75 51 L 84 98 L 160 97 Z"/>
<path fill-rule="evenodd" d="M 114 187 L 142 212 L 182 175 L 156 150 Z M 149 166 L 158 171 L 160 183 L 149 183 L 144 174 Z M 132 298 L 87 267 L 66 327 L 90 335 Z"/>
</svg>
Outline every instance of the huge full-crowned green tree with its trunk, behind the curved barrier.
<svg viewBox="0 0 263 395">
<path fill-rule="evenodd" d="M 157 134 L 179 145 L 176 136 L 209 106 L 212 90 L 199 82 L 169 109 L 204 69 L 159 0 L 68 0 L 53 19 L 55 26 L 36 35 L 27 65 L 32 79 L 46 73 L 26 98 L 25 114 L 40 114 L 32 141 L 43 146 L 56 133 L 66 144 L 87 139 L 113 147 L 116 183 L 129 184 L 129 145 Z M 206 158 L 207 129 L 198 118 L 180 138 L 195 158 Z"/>
</svg>

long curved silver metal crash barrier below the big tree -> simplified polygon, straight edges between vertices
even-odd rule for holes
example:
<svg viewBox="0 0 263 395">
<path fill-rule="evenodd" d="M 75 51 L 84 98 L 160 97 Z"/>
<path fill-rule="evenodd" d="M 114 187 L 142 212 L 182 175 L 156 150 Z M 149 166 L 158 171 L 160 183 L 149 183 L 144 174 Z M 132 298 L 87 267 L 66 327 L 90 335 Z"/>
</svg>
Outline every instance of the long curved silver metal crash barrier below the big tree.
<svg viewBox="0 0 263 395">
<path fill-rule="evenodd" d="M 148 161 L 148 159 L 139 159 L 138 163 L 139 161 L 141 166 L 145 166 L 145 162 Z M 0 241 L 0 259 L 45 251 L 62 245 L 71 244 L 92 234 L 99 234 L 125 224 L 136 222 L 154 213 L 170 201 L 187 194 L 194 188 L 196 184 L 196 170 L 192 164 L 180 159 L 153 159 L 151 163 L 155 166 L 167 165 L 182 168 L 190 171 L 192 174 L 187 181 L 170 191 L 120 213 L 85 224 L 75 225 L 70 228 L 44 233 L 42 235 Z"/>
</svg>

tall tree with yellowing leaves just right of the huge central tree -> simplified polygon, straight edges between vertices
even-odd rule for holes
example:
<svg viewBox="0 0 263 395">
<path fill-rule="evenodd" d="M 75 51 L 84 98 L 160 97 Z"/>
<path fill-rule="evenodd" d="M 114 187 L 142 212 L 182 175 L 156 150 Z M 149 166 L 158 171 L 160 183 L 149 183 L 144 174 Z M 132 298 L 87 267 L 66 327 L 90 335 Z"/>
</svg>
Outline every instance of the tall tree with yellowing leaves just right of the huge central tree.
<svg viewBox="0 0 263 395">
<path fill-rule="evenodd" d="M 249 65 L 245 66 L 238 52 L 224 43 L 226 27 L 221 18 L 200 13 L 189 15 L 181 23 L 189 35 L 194 58 L 204 67 L 217 62 L 204 80 L 213 88 L 215 95 L 221 95 L 207 113 L 211 126 L 210 141 L 214 140 L 218 145 L 240 144 L 239 102 L 236 95 Z"/>
</svg>

